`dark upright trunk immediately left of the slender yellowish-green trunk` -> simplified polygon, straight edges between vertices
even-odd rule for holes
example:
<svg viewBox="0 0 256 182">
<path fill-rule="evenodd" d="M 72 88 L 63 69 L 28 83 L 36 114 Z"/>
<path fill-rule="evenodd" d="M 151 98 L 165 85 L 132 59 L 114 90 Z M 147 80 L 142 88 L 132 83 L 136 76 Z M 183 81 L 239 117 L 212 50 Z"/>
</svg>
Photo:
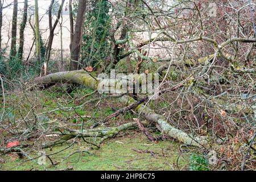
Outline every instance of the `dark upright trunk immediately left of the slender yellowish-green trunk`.
<svg viewBox="0 0 256 182">
<path fill-rule="evenodd" d="M 22 61 L 23 56 L 23 46 L 24 46 L 24 29 L 27 23 L 27 1 L 24 1 L 24 12 L 22 17 L 22 23 L 20 24 L 20 31 L 19 31 L 19 50 L 18 50 L 18 59 Z"/>
</svg>

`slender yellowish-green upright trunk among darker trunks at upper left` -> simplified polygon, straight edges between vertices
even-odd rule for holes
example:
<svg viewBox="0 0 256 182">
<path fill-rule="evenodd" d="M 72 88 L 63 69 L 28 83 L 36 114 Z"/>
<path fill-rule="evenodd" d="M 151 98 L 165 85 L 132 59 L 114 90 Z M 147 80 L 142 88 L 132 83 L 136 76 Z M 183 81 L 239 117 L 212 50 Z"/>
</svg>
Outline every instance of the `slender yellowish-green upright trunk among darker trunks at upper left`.
<svg viewBox="0 0 256 182">
<path fill-rule="evenodd" d="M 35 0 L 35 35 L 36 35 L 36 58 L 38 60 L 38 63 L 41 63 L 38 0 Z"/>
</svg>

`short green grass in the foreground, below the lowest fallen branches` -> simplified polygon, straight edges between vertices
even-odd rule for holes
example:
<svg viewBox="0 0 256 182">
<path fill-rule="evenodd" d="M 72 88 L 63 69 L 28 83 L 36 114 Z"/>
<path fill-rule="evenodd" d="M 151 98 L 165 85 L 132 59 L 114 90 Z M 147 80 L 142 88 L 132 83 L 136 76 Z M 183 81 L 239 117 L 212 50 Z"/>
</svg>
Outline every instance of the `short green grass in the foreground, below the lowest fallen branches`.
<svg viewBox="0 0 256 182">
<path fill-rule="evenodd" d="M 67 145 L 53 147 L 52 151 L 48 149 L 45 151 L 49 155 L 63 150 L 65 147 Z M 85 150 L 86 148 L 89 148 L 88 144 L 81 142 L 81 145 L 75 144 L 75 146 L 51 156 L 51 159 L 53 163 L 61 162 L 69 154 L 72 154 L 72 152 Z M 146 152 L 136 152 L 133 148 L 139 151 L 154 151 L 155 156 Z M 182 155 L 179 157 L 179 151 L 173 148 L 178 148 L 177 143 L 168 140 L 152 143 L 143 134 L 133 132 L 130 135 L 107 140 L 99 150 L 89 150 L 90 154 L 74 154 L 55 167 L 51 165 L 49 159 L 46 159 L 47 163 L 45 165 L 40 166 L 36 162 L 24 162 L 26 159 L 11 160 L 9 156 L 5 156 L 4 158 L 7 159 L 6 163 L 2 164 L 0 169 L 55 170 L 71 166 L 75 170 L 172 170 L 178 169 L 178 167 L 179 169 L 187 169 L 189 156 Z"/>
</svg>

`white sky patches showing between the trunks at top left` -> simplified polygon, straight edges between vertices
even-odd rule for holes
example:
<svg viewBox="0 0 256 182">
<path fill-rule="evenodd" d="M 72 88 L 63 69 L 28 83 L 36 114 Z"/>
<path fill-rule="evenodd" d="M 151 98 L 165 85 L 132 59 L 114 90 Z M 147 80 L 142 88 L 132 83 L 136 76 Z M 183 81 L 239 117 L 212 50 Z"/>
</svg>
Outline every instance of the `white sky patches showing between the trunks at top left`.
<svg viewBox="0 0 256 182">
<path fill-rule="evenodd" d="M 8 4 L 10 4 L 11 0 L 4 0 L 4 4 L 3 6 L 6 6 Z M 56 1 L 59 1 L 59 3 L 61 3 L 61 0 L 56 0 Z M 66 5 L 66 3 L 68 2 L 68 0 L 65 0 L 64 2 L 64 7 Z M 23 6 L 24 6 L 24 0 L 18 0 L 18 10 L 19 9 L 23 9 Z M 51 3 L 51 0 L 38 0 L 38 8 L 39 8 L 39 14 L 42 15 L 44 13 L 46 13 L 49 5 Z M 35 5 L 35 1 L 34 0 L 28 0 L 28 5 Z M 8 14 L 8 15 L 11 15 L 13 13 L 13 6 L 10 6 L 9 8 L 6 8 L 3 10 L 3 14 Z"/>
</svg>

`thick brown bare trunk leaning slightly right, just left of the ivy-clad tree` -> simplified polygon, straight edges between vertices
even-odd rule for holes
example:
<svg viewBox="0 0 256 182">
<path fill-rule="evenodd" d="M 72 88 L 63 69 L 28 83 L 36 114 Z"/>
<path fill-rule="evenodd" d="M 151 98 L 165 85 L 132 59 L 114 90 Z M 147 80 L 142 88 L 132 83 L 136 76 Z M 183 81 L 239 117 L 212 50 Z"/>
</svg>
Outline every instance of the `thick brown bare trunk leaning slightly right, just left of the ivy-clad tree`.
<svg viewBox="0 0 256 182">
<path fill-rule="evenodd" d="M 75 32 L 71 48 L 71 62 L 69 70 L 76 70 L 78 68 L 78 61 L 80 55 L 81 41 L 82 41 L 82 26 L 84 25 L 84 14 L 86 9 L 86 0 L 79 0 Z"/>
</svg>

